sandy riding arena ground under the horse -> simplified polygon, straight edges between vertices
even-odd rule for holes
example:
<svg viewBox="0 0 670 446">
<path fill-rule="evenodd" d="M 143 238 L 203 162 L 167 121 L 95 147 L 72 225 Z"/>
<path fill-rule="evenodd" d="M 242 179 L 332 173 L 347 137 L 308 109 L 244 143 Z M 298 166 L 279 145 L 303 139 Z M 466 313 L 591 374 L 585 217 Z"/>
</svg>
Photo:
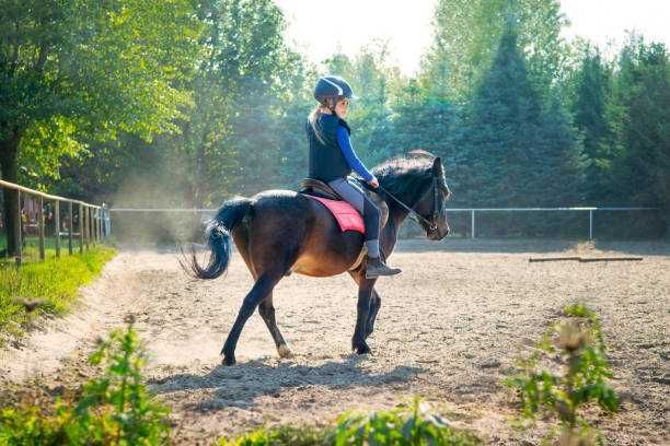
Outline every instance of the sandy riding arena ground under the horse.
<svg viewBox="0 0 670 446">
<path fill-rule="evenodd" d="M 528 262 L 575 253 L 644 260 Z M 500 380 L 563 305 L 581 300 L 602 318 L 623 398 L 622 412 L 599 427 L 615 445 L 670 442 L 670 245 L 405 242 L 390 262 L 404 273 L 378 282 L 372 355 L 349 353 L 356 289 L 348 275 L 291 275 L 277 286 L 275 305 L 296 356 L 279 360 L 254 315 L 238 365 L 222 367 L 219 350 L 252 285 L 239 256 L 226 278 L 193 281 L 173 253 L 124 250 L 83 290 L 72 315 L 0 353 L 0 386 L 35 375 L 71 379 L 92 340 L 134 314 L 151 355 L 148 375 L 173 408 L 181 444 L 263 424 L 325 424 L 344 410 L 390 408 L 414 395 L 486 443 L 536 444 L 546 425 L 513 431 L 515 398 Z"/>
</svg>

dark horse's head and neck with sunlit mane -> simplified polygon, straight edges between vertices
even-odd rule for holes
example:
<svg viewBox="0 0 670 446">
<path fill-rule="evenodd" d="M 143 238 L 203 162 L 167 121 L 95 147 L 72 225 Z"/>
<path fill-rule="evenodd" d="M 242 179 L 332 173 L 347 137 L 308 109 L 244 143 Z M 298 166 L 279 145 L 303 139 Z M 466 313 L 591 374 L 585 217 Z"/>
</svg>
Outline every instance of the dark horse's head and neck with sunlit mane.
<svg viewBox="0 0 670 446">
<path fill-rule="evenodd" d="M 418 224 L 431 240 L 441 240 L 449 234 L 444 202 L 450 191 L 444 180 L 444 169 L 439 156 L 423 150 L 408 153 L 411 157 L 389 160 L 373 169 L 380 183 L 394 198 L 388 198 L 390 206 L 406 211 L 411 208 L 418 218 Z M 404 204 L 404 206 L 403 206 Z M 404 210 L 403 210 L 404 209 Z"/>
</svg>

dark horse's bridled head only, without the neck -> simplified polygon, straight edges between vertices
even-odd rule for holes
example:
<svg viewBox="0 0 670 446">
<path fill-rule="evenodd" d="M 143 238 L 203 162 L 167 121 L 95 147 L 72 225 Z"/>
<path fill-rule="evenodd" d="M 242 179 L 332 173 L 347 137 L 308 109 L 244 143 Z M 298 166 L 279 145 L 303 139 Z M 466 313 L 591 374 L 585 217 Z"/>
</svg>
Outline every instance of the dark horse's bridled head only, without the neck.
<svg viewBox="0 0 670 446">
<path fill-rule="evenodd" d="M 426 231 L 426 237 L 431 240 L 441 240 L 449 235 L 449 223 L 447 222 L 446 201 L 451 195 L 444 179 L 444 169 L 439 156 L 432 160 L 429 179 L 424 180 L 424 192 L 414 210 L 423 219 L 417 219 L 418 224 Z"/>
</svg>

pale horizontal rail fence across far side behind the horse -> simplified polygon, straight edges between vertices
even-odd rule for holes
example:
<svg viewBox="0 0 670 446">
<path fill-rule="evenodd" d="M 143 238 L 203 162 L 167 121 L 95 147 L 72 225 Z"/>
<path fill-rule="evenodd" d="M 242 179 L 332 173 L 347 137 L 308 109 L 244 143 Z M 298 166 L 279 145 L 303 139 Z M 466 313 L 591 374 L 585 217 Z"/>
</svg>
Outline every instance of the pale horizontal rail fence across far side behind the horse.
<svg viewBox="0 0 670 446">
<path fill-rule="evenodd" d="M 593 213 L 596 211 L 655 211 L 658 208 L 645 207 L 574 207 L 574 208 L 447 208 L 447 212 L 469 212 L 470 213 L 470 238 L 476 238 L 476 219 L 477 212 L 589 212 L 589 239 L 593 239 Z M 184 209 L 184 208 L 112 208 L 111 212 L 189 212 L 189 213 L 206 213 L 217 212 L 216 209 Z"/>
</svg>

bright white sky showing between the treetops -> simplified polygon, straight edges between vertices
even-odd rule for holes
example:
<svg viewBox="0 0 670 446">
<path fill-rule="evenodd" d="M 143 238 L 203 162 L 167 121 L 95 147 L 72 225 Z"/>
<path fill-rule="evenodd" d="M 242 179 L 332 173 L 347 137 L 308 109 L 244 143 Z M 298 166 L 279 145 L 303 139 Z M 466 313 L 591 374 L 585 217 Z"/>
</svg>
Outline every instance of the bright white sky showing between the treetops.
<svg viewBox="0 0 670 446">
<path fill-rule="evenodd" d="M 287 17 L 288 40 L 315 63 L 338 50 L 354 56 L 366 44 L 388 40 L 391 62 L 411 75 L 430 45 L 436 0 L 275 1 Z M 670 0 L 561 0 L 561 8 L 571 22 L 566 38 L 582 36 L 604 47 L 635 30 L 670 46 Z"/>
</svg>

